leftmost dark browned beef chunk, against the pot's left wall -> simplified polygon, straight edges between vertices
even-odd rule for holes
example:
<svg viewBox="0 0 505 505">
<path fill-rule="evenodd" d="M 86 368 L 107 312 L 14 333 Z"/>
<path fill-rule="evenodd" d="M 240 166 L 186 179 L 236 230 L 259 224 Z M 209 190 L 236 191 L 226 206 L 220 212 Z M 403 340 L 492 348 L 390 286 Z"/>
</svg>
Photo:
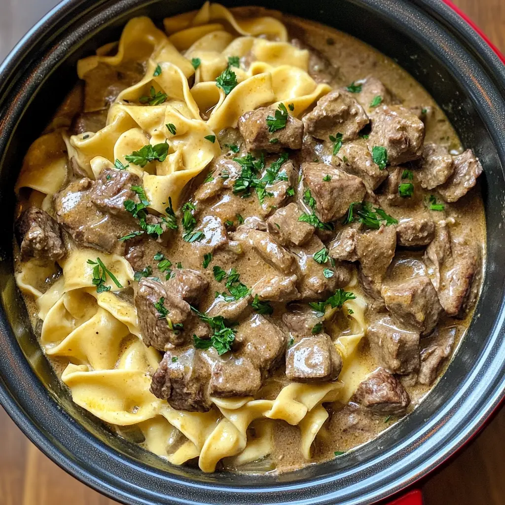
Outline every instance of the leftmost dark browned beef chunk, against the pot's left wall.
<svg viewBox="0 0 505 505">
<path fill-rule="evenodd" d="M 37 207 L 26 209 L 16 222 L 21 258 L 56 261 L 65 255 L 60 227 L 47 212 Z"/>
</svg>

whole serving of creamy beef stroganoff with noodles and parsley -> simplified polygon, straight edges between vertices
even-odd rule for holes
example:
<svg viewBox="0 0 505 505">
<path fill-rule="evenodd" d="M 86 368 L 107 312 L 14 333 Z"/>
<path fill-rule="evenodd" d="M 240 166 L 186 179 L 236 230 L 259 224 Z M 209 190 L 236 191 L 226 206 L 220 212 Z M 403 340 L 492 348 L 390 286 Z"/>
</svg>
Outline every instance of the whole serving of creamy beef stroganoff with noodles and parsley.
<svg viewBox="0 0 505 505">
<path fill-rule="evenodd" d="M 327 461 L 418 405 L 470 324 L 485 220 L 478 158 L 412 77 L 210 3 L 131 19 L 77 74 L 14 244 L 74 402 L 204 472 Z"/>
</svg>

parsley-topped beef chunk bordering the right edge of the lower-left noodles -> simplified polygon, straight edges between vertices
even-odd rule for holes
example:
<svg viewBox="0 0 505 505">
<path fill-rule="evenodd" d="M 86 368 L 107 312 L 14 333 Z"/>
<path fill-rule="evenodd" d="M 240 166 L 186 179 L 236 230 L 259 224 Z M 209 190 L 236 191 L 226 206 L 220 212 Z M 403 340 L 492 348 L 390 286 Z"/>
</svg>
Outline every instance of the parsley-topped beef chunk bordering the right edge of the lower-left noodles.
<svg viewBox="0 0 505 505">
<path fill-rule="evenodd" d="M 154 279 L 140 279 L 135 307 L 142 340 L 147 346 L 167 350 L 187 342 L 193 334 L 209 335 L 209 327 L 191 313 L 180 294 Z"/>
</svg>

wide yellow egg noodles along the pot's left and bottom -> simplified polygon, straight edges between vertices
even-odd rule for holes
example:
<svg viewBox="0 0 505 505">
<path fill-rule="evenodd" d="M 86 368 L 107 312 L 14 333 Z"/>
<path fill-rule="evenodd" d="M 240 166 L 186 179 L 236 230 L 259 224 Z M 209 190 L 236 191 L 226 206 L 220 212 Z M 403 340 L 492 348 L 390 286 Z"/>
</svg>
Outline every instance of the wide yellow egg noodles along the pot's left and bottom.
<svg viewBox="0 0 505 505">
<path fill-rule="evenodd" d="M 104 168 L 113 168 L 115 160 L 128 165 L 125 155 L 134 150 L 168 142 L 164 161 L 127 167 L 142 178 L 149 208 L 163 214 L 168 198 L 177 208 L 186 183 L 221 154 L 219 143 L 207 136 L 236 127 L 243 113 L 259 106 L 292 104 L 289 113 L 299 116 L 331 89 L 309 76 L 309 53 L 287 42 L 286 28 L 274 17 L 239 21 L 223 6 L 206 3 L 196 14 L 165 19 L 164 27 L 166 33 L 148 18 L 134 18 L 125 26 L 115 56 L 107 56 L 114 47 L 108 44 L 79 61 L 83 79 L 100 62 L 146 62 L 146 72 L 119 94 L 103 129 L 68 136 L 60 128 L 32 144 L 16 186 L 17 191 L 32 189 L 31 205 L 49 206 L 72 157 L 95 179 Z M 247 54 L 254 61 L 247 71 L 233 68 L 238 84 L 225 94 L 216 78 L 228 67 L 229 57 Z M 168 99 L 161 105 L 139 103 L 140 96 L 153 92 Z M 175 133 L 167 124 L 175 126 Z M 68 360 L 61 378 L 79 406 L 106 423 L 136 425 L 147 449 L 176 465 L 198 458 L 205 472 L 213 472 L 223 459 L 225 466 L 235 468 L 268 456 L 275 420 L 299 427 L 302 453 L 310 461 L 311 445 L 328 418 L 322 403 L 346 402 L 368 372 L 357 359 L 366 328 L 366 304 L 358 293 L 344 305 L 351 309 L 350 330 L 333 336 L 343 360 L 340 381 L 288 383 L 273 400 L 262 399 L 267 383 L 256 398 L 212 398 L 209 412 L 178 411 L 149 390 L 162 356 L 144 345 L 136 309 L 122 297 L 136 282 L 130 264 L 121 256 L 92 252 L 91 259 L 99 258 L 123 288 L 113 285 L 111 291 L 97 293 L 90 249 L 77 246 L 59 262 L 63 275 L 43 293 L 41 286 L 57 272 L 56 265 L 30 260 L 16 275 L 23 293 L 35 299 L 45 354 Z"/>
</svg>

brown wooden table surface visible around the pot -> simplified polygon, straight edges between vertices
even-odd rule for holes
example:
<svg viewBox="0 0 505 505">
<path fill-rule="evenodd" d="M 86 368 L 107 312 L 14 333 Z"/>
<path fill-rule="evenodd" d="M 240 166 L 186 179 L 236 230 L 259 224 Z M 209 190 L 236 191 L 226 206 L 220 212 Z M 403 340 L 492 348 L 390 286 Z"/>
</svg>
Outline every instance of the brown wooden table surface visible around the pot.
<svg viewBox="0 0 505 505">
<path fill-rule="evenodd" d="M 505 52 L 505 0 L 453 1 Z M 54 0 L 0 0 L 0 58 L 55 3 Z M 27 9 L 19 9 L 20 4 Z M 425 505 L 503 505 L 504 440 L 505 409 L 502 409 L 473 443 L 424 483 Z M 2 409 L 0 447 L 0 505 L 116 503 L 49 461 Z"/>
</svg>

